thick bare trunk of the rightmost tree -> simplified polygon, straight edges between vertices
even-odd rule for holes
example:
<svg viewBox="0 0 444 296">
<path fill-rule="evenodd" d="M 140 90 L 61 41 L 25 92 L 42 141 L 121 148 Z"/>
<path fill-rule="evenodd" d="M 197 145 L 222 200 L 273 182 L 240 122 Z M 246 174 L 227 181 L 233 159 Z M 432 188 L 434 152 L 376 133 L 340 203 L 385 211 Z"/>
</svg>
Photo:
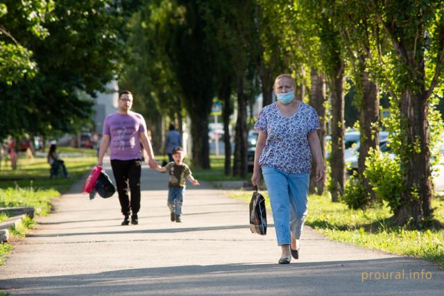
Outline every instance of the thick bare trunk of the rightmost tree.
<svg viewBox="0 0 444 296">
<path fill-rule="evenodd" d="M 404 92 L 400 100 L 400 132 L 404 143 L 404 153 L 400 156 L 406 190 L 401 193 L 401 206 L 393 217 L 398 225 L 404 225 L 410 219 L 419 223 L 423 217 L 432 216 L 428 105 L 425 93 L 424 88 L 420 94 Z"/>
</svg>

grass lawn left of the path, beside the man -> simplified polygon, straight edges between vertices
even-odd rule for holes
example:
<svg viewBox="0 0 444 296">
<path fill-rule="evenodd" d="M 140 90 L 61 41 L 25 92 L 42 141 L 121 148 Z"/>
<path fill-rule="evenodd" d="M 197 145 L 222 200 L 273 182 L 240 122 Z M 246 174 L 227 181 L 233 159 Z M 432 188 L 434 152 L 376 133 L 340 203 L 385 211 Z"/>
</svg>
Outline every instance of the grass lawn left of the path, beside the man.
<svg viewBox="0 0 444 296">
<path fill-rule="evenodd" d="M 60 153 L 78 153 L 83 157 L 64 157 L 65 165 L 71 177 L 49 177 L 49 164 L 46 157 L 34 159 L 19 158 L 17 170 L 12 171 L 2 166 L 0 170 L 0 207 L 34 207 L 36 216 L 46 216 L 51 212 L 51 200 L 91 170 L 96 164 L 95 151 L 91 149 L 60 148 Z M 6 214 L 0 214 L 0 222 L 6 220 Z M 26 218 L 22 224 L 11 229 L 12 236 L 23 237 L 27 229 L 33 227 L 33 220 Z M 11 247 L 0 244 L 0 265 Z"/>
</svg>

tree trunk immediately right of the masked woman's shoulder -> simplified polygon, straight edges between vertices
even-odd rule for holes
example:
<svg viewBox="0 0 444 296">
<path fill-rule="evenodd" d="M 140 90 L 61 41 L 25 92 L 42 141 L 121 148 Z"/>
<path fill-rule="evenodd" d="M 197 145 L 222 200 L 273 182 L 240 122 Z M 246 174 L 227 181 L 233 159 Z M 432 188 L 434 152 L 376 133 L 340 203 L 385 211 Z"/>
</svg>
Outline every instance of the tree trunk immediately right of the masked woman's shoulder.
<svg viewBox="0 0 444 296">
<path fill-rule="evenodd" d="M 311 69 L 311 89 L 310 89 L 310 103 L 311 107 L 314 107 L 319 116 L 319 123 L 321 125 L 321 130 L 318 130 L 318 137 L 321 143 L 321 151 L 323 159 L 325 159 L 325 136 L 327 134 L 327 121 L 325 119 L 325 101 L 327 101 L 327 96 L 325 95 L 325 79 L 322 75 L 318 74 L 317 69 Z M 316 181 L 316 162 L 312 157 L 311 162 L 311 173 L 310 173 L 310 184 L 309 193 L 316 193 L 322 195 L 325 188 L 325 182 L 327 181 L 327 175 L 324 174 L 323 180 L 320 182 Z M 324 162 L 324 171 L 327 166 Z"/>
</svg>

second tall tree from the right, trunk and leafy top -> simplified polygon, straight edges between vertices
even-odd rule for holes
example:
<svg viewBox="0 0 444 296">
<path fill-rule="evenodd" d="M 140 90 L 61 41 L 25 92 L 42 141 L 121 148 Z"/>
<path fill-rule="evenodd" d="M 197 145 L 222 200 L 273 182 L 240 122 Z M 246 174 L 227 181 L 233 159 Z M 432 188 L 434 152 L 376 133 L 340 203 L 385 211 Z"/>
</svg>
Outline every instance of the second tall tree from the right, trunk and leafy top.
<svg viewBox="0 0 444 296">
<path fill-rule="evenodd" d="M 371 186 L 364 175 L 366 158 L 370 148 L 379 147 L 379 89 L 375 76 L 372 78 L 368 71 L 373 58 L 370 44 L 375 21 L 356 1 L 336 1 L 332 13 L 337 19 L 336 27 L 349 53 L 348 58 L 352 65 L 350 72 L 356 89 L 353 100 L 359 110 L 358 180 L 368 192 L 367 196 L 361 197 L 361 206 L 364 207 L 373 200 Z"/>
</svg>

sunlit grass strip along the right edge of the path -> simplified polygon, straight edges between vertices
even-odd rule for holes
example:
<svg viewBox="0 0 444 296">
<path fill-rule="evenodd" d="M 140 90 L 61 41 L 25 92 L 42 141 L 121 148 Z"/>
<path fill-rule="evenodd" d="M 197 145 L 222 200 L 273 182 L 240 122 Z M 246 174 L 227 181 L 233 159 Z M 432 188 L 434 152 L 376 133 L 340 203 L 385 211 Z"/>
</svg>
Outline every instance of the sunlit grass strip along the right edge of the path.
<svg viewBox="0 0 444 296">
<path fill-rule="evenodd" d="M 250 202 L 251 193 L 231 195 Z M 271 210 L 268 194 L 264 193 L 266 207 Z M 383 250 L 393 254 L 416 256 L 432 261 L 444 268 L 444 196 L 432 200 L 437 220 L 430 227 L 409 229 L 393 225 L 386 206 L 352 210 L 341 202 L 331 202 L 327 195 L 309 196 L 309 214 L 306 224 L 329 238 L 353 243 L 368 249 Z"/>
</svg>

